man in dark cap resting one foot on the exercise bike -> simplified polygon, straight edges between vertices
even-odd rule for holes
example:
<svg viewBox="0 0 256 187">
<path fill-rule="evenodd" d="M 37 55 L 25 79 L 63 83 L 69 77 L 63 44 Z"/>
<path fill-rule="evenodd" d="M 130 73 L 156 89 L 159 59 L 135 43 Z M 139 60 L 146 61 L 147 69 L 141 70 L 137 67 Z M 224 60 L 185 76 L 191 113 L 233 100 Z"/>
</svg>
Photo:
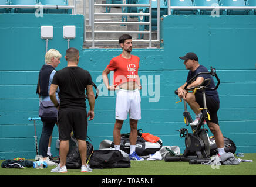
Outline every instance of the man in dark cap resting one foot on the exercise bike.
<svg viewBox="0 0 256 187">
<path fill-rule="evenodd" d="M 199 72 L 208 72 L 207 68 L 203 65 L 200 65 L 198 63 L 198 57 L 196 54 L 190 52 L 187 53 L 184 57 L 180 57 L 180 59 L 184 60 L 184 65 L 186 66 L 187 70 L 190 70 L 187 75 L 187 81 L 184 85 L 180 86 L 178 88 L 178 96 L 180 98 L 183 98 L 185 101 L 187 101 L 188 105 L 190 105 L 190 108 L 193 110 L 193 112 L 196 114 L 196 119 L 194 122 L 190 123 L 191 126 L 196 126 L 198 123 L 198 120 L 201 117 L 201 111 L 198 110 L 199 108 L 204 108 L 203 106 L 203 95 L 201 91 L 197 91 L 195 95 L 193 93 L 190 93 L 186 91 L 184 88 L 187 84 L 187 82 L 194 77 L 194 75 L 197 75 Z M 200 85 L 204 79 L 210 78 L 211 82 L 210 85 L 208 85 L 209 88 L 215 88 L 215 83 L 213 81 L 213 77 L 211 75 L 198 75 L 196 80 L 192 82 L 188 88 Z M 224 151 L 224 138 L 223 134 L 221 133 L 220 126 L 218 124 L 218 116 L 217 111 L 220 107 L 220 99 L 218 96 L 217 90 L 207 90 L 206 89 L 206 103 L 207 108 L 210 112 L 211 120 L 207 120 L 207 125 L 211 132 L 214 135 L 216 145 L 218 147 L 218 154 L 225 153 Z M 205 122 L 206 123 L 206 122 Z"/>
</svg>

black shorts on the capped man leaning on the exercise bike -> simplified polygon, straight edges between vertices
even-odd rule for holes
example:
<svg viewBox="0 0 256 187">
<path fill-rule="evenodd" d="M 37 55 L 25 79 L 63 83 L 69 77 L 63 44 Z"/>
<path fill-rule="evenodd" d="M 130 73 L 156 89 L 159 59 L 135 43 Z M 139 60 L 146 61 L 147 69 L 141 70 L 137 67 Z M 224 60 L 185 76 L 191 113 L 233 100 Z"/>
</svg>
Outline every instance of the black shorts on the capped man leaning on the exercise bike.
<svg viewBox="0 0 256 187">
<path fill-rule="evenodd" d="M 204 108 L 203 94 L 196 93 L 195 98 L 196 98 L 196 102 L 200 105 L 200 108 Z M 211 122 L 218 124 L 217 111 L 220 108 L 220 103 L 215 101 L 213 97 L 206 95 L 206 106 L 210 112 Z"/>
</svg>

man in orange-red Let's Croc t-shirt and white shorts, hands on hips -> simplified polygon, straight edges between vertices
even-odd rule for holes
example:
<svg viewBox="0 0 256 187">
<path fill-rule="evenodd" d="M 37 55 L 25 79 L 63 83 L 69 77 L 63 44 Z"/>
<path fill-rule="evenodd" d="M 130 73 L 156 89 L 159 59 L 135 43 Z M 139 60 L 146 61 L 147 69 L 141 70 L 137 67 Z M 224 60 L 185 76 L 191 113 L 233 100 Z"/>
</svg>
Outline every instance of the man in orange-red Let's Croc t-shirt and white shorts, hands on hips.
<svg viewBox="0 0 256 187">
<path fill-rule="evenodd" d="M 114 124 L 114 147 L 120 150 L 123 120 L 130 118 L 130 160 L 143 161 L 136 153 L 137 123 L 141 119 L 140 111 L 140 78 L 138 75 L 140 58 L 130 54 L 132 52 L 132 37 L 123 34 L 119 37 L 122 54 L 110 60 L 109 65 L 102 72 L 103 81 L 109 90 L 118 90 L 116 95 L 116 123 Z M 113 85 L 109 85 L 107 75 L 114 71 Z"/>
</svg>

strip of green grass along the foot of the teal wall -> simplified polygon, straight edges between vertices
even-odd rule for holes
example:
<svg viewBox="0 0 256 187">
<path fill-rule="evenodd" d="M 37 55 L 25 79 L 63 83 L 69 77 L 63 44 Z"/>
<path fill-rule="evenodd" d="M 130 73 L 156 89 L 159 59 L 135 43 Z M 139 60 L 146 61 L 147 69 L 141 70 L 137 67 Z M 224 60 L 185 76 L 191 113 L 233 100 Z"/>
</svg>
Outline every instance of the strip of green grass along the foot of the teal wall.
<svg viewBox="0 0 256 187">
<path fill-rule="evenodd" d="M 80 169 L 68 169 L 68 173 L 51 173 L 55 167 L 44 169 L 7 169 L 0 168 L 1 175 L 256 175 L 256 153 L 245 154 L 242 159 L 254 162 L 241 162 L 239 165 L 220 165 L 213 169 L 210 165 L 190 165 L 188 162 L 132 161 L 130 168 L 93 169 L 90 173 L 81 173 Z M 0 160 L 0 164 L 4 160 Z"/>
</svg>

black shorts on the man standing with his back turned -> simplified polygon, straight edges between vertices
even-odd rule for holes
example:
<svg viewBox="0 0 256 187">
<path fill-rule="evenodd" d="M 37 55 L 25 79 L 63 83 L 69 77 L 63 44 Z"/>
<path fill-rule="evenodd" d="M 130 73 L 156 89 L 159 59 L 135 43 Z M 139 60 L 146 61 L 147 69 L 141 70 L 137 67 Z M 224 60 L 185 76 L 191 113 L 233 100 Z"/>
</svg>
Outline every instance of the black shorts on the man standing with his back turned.
<svg viewBox="0 0 256 187">
<path fill-rule="evenodd" d="M 87 115 L 86 109 L 66 108 L 58 112 L 59 140 L 70 140 L 73 130 L 75 138 L 86 140 Z"/>
</svg>

